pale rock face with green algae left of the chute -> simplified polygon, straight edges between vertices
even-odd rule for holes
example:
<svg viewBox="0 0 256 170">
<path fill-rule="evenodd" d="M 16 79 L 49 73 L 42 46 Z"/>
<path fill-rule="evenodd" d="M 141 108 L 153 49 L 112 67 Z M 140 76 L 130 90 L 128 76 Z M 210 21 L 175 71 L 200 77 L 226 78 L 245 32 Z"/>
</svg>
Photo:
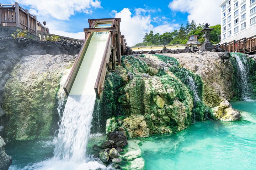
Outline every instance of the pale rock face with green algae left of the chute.
<svg viewBox="0 0 256 170">
<path fill-rule="evenodd" d="M 58 121 L 58 92 L 65 70 L 75 57 L 23 57 L 5 86 L 3 108 L 8 140 L 33 140 L 53 135 Z"/>
</svg>

